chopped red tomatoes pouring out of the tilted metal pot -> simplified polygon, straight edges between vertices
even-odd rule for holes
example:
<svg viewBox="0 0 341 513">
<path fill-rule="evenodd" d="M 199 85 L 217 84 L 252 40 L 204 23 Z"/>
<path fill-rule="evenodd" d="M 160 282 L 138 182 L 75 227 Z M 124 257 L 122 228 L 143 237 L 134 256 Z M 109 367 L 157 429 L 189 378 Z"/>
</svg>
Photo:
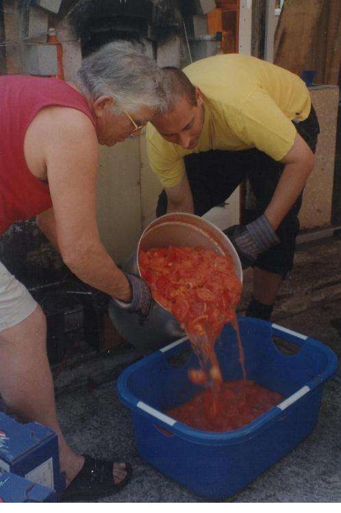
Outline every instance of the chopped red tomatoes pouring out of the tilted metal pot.
<svg viewBox="0 0 341 513">
<path fill-rule="evenodd" d="M 140 272 L 151 292 L 190 338 L 202 370 L 190 371 L 194 383 L 218 388 L 222 381 L 214 342 L 223 325 L 234 321 L 242 284 L 230 255 L 204 247 L 140 251 Z"/>
</svg>

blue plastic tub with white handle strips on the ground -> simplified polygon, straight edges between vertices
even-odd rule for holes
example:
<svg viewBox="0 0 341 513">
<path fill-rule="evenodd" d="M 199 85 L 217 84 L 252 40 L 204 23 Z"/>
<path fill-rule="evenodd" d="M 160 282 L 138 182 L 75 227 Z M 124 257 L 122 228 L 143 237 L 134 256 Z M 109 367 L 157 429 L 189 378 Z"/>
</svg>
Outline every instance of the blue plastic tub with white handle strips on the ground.
<svg viewBox="0 0 341 513">
<path fill-rule="evenodd" d="M 337 367 L 335 353 L 317 340 L 250 317 L 240 318 L 239 326 L 247 378 L 286 398 L 241 429 L 200 431 L 165 413 L 202 391 L 188 379 L 188 369 L 199 364 L 186 338 L 129 366 L 118 378 L 118 397 L 131 410 L 142 459 L 207 499 L 233 495 L 310 434 L 324 383 Z M 273 336 L 299 346 L 299 352 L 284 355 Z M 216 353 L 223 379 L 241 379 L 231 325 L 216 342 Z"/>
</svg>

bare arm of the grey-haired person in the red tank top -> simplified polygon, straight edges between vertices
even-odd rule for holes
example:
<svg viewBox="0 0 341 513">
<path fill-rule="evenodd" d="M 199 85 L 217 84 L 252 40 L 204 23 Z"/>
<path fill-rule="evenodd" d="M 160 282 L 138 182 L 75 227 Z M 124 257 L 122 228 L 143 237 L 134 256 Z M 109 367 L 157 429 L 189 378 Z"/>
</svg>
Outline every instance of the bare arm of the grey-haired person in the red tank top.
<svg viewBox="0 0 341 513">
<path fill-rule="evenodd" d="M 127 278 L 99 238 L 94 127 L 85 114 L 74 109 L 58 109 L 54 114 L 44 123 L 43 143 L 53 212 L 40 216 L 40 221 L 77 277 L 116 299 L 129 301 Z"/>
</svg>

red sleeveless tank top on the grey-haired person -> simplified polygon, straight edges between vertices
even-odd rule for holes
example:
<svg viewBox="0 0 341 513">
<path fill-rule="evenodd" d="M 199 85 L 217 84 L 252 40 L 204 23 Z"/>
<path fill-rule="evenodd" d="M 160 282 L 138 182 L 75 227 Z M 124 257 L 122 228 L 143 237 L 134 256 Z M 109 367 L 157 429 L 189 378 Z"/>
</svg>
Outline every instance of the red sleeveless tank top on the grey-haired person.
<svg viewBox="0 0 341 513">
<path fill-rule="evenodd" d="M 81 110 L 95 125 L 86 99 L 56 78 L 21 75 L 0 77 L 0 235 L 15 221 L 51 208 L 48 184 L 29 171 L 24 139 L 29 124 L 45 107 Z"/>
</svg>

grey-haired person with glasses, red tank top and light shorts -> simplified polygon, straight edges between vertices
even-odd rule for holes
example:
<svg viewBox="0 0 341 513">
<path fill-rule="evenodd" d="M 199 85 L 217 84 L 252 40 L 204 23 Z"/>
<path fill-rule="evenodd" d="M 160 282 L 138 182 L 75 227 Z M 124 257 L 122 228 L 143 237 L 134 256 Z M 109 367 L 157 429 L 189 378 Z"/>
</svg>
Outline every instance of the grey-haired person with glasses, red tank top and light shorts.
<svg viewBox="0 0 341 513">
<path fill-rule="evenodd" d="M 0 234 L 38 214 L 38 225 L 77 277 L 142 315 L 151 303 L 147 284 L 120 271 L 99 238 L 98 144 L 125 140 L 162 108 L 159 75 L 137 47 L 114 42 L 84 61 L 79 84 L 0 77 Z M 68 484 L 64 499 L 110 495 L 127 484 L 129 464 L 77 455 L 66 444 L 55 410 L 45 316 L 1 263 L 0 392 L 19 418 L 58 434 Z"/>
</svg>

